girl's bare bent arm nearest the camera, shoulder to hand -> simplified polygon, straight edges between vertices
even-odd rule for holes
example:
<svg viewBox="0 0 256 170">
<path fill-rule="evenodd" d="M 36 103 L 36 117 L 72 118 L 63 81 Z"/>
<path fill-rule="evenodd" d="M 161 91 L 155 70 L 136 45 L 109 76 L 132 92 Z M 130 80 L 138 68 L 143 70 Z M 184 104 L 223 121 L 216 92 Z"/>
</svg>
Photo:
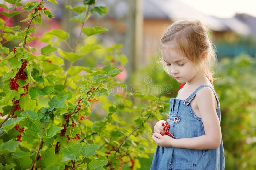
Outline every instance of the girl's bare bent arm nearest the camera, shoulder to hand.
<svg viewBox="0 0 256 170">
<path fill-rule="evenodd" d="M 196 100 L 195 100 L 196 99 Z M 215 95 L 211 88 L 202 88 L 194 98 L 202 116 L 205 135 L 192 138 L 173 139 L 168 135 L 162 136 L 155 132 L 152 139 L 162 147 L 176 147 L 187 149 L 214 149 L 220 146 L 220 121 L 215 109 Z"/>
</svg>

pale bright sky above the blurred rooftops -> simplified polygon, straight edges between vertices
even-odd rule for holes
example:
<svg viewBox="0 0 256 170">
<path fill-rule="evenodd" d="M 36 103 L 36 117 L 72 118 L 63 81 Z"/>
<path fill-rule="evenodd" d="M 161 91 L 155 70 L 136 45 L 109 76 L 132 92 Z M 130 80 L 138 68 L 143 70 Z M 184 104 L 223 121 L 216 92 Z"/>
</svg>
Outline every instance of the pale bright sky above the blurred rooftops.
<svg viewBox="0 0 256 170">
<path fill-rule="evenodd" d="M 256 0 L 181 0 L 198 11 L 220 18 L 232 18 L 235 13 L 256 17 Z M 213 3 L 212 3 L 213 2 Z"/>
</svg>

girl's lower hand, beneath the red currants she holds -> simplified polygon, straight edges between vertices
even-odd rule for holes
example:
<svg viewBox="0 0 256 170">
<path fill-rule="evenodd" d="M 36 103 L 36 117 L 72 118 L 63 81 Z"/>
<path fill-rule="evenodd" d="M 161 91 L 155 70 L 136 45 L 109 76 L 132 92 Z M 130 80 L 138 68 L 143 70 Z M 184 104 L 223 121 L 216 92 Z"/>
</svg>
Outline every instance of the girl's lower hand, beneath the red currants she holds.
<svg viewBox="0 0 256 170">
<path fill-rule="evenodd" d="M 168 135 L 162 136 L 160 133 L 157 133 L 157 132 L 155 132 L 152 135 L 152 139 L 156 142 L 158 146 L 161 146 L 161 147 L 171 147 L 173 140 L 175 140 Z"/>
</svg>

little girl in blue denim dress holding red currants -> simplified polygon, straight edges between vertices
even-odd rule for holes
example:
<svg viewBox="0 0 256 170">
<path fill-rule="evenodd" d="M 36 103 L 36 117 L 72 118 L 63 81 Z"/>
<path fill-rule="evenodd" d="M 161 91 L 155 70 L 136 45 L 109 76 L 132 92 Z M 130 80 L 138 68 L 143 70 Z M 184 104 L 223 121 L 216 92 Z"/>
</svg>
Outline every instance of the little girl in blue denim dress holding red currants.
<svg viewBox="0 0 256 170">
<path fill-rule="evenodd" d="M 151 170 L 224 169 L 220 103 L 211 73 L 216 54 L 207 31 L 198 20 L 181 20 L 161 39 L 164 69 L 185 85 L 170 100 L 169 130 L 163 130 L 164 120 L 154 127 Z"/>
</svg>

